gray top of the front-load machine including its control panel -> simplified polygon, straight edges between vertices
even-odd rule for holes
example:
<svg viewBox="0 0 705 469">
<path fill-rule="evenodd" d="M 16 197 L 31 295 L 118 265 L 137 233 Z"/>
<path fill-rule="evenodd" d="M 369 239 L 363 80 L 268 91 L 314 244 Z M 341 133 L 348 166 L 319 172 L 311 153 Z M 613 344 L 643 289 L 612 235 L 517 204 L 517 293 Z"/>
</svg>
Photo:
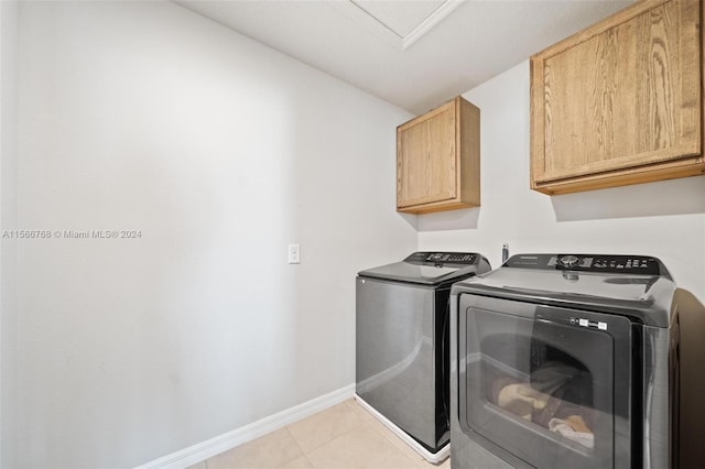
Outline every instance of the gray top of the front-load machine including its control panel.
<svg viewBox="0 0 705 469">
<path fill-rule="evenodd" d="M 481 277 L 458 282 L 452 293 L 612 313 L 669 327 L 675 290 L 669 271 L 652 257 L 517 254 Z"/>
</svg>

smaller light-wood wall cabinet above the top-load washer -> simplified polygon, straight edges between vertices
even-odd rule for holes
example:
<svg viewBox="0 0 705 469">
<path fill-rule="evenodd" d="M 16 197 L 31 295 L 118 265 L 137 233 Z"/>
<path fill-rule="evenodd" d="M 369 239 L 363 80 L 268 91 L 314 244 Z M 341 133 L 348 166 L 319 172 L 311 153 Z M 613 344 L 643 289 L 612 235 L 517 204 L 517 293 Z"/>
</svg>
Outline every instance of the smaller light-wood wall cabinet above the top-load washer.
<svg viewBox="0 0 705 469">
<path fill-rule="evenodd" d="M 462 97 L 397 128 L 397 210 L 480 205 L 480 110 Z"/>
</svg>

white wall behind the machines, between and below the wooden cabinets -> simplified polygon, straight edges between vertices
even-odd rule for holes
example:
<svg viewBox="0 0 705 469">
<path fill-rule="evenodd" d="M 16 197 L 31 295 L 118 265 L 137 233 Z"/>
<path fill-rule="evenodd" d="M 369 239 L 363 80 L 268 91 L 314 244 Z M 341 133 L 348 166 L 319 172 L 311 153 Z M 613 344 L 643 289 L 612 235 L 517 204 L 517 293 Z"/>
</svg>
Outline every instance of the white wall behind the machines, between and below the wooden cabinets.
<svg viewBox="0 0 705 469">
<path fill-rule="evenodd" d="M 529 62 L 463 95 L 481 110 L 481 207 L 419 217 L 425 250 L 660 258 L 705 302 L 705 176 L 547 196 L 529 189 Z"/>
</svg>

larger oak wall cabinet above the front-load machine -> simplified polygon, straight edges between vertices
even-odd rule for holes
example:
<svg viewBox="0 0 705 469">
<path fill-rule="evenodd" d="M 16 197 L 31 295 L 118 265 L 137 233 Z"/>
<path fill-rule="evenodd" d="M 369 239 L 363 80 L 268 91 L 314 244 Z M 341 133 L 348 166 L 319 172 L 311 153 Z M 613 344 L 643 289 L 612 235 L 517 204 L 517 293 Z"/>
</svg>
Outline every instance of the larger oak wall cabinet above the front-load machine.
<svg viewBox="0 0 705 469">
<path fill-rule="evenodd" d="M 531 188 L 705 172 L 702 10 L 641 1 L 531 57 Z"/>
</svg>

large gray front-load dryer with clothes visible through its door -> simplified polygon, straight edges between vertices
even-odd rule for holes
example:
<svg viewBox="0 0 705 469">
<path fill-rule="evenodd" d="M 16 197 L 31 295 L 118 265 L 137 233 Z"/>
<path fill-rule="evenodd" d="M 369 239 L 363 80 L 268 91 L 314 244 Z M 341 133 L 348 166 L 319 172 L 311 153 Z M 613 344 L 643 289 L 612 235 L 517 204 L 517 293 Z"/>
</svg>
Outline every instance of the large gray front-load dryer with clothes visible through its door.
<svg viewBox="0 0 705 469">
<path fill-rule="evenodd" d="M 703 467 L 705 308 L 659 259 L 514 255 L 451 339 L 454 469 Z"/>
</svg>

